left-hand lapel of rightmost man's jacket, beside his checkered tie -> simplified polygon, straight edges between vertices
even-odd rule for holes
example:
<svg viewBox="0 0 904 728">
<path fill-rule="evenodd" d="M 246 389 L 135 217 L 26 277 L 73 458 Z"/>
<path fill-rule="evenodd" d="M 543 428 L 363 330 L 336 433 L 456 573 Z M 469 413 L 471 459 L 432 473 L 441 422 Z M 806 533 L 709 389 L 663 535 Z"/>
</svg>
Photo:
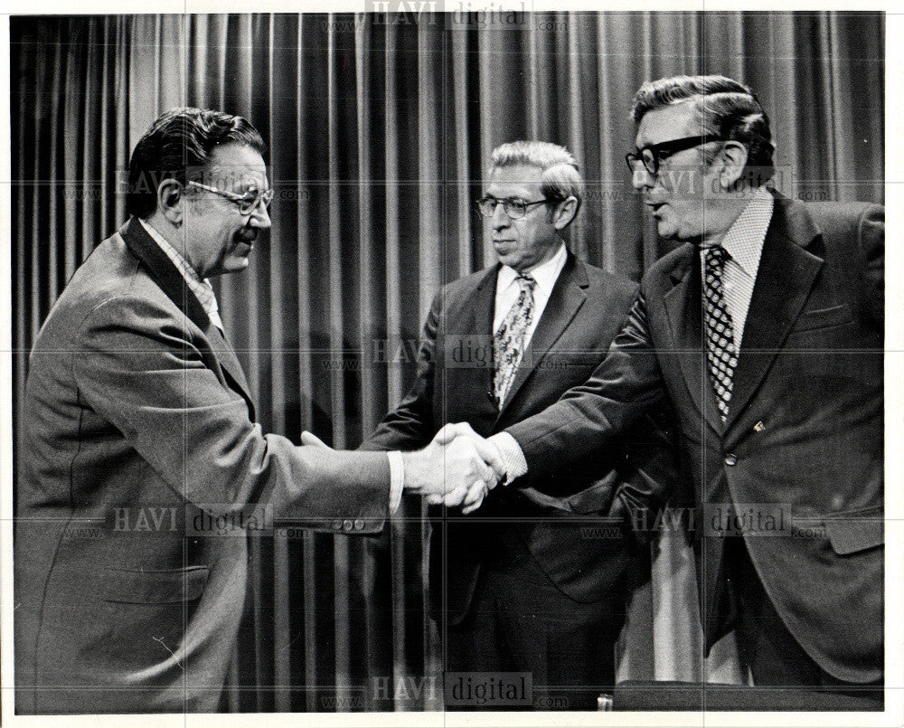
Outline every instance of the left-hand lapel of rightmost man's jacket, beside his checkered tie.
<svg viewBox="0 0 904 728">
<path fill-rule="evenodd" d="M 674 354 L 697 411 L 702 412 L 713 430 L 721 432 L 722 422 L 703 348 L 699 249 L 687 245 L 685 255 L 669 276 L 673 288 L 665 294 L 663 301 L 672 329 Z"/>
</svg>

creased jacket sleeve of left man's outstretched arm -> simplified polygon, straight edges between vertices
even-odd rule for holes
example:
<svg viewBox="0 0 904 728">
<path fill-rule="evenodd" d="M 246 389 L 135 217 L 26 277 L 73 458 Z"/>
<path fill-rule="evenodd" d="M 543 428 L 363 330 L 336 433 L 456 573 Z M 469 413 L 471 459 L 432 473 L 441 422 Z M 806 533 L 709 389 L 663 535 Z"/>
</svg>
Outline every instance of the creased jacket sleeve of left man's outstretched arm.
<svg viewBox="0 0 904 728">
<path fill-rule="evenodd" d="M 385 455 L 296 447 L 265 435 L 217 379 L 184 323 L 137 297 L 91 311 L 76 338 L 82 406 L 116 427 L 169 487 L 213 515 L 267 503 L 274 517 L 334 530 L 335 519 L 386 517 Z"/>
</svg>

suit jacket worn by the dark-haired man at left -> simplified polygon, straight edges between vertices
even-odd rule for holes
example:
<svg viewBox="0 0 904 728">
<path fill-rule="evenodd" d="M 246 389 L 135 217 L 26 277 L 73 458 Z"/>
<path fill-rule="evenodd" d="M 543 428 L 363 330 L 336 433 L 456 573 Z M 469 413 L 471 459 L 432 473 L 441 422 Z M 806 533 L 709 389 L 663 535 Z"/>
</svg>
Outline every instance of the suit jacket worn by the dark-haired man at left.
<svg viewBox="0 0 904 728">
<path fill-rule="evenodd" d="M 385 456 L 297 448 L 254 423 L 231 346 L 136 220 L 53 307 L 23 411 L 20 713 L 215 711 L 250 517 L 266 504 L 373 532 L 386 515 Z"/>
</svg>

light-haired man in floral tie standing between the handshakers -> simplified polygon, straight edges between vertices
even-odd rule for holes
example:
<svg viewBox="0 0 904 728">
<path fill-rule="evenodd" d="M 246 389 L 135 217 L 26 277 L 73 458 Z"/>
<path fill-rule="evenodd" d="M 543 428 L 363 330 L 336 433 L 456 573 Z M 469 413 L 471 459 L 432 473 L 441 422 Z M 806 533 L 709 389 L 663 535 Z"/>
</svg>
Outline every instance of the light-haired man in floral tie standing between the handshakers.
<svg viewBox="0 0 904 728">
<path fill-rule="evenodd" d="M 583 382 L 625 321 L 636 284 L 565 244 L 583 197 L 574 156 L 517 141 L 491 160 L 477 205 L 499 262 L 434 298 L 415 383 L 365 449 L 419 448 L 447 422 L 490 435 L 522 421 Z M 557 476 L 497 487 L 478 517 L 479 498 L 432 511 L 429 591 L 447 670 L 530 672 L 538 706 L 596 709 L 614 683 L 630 513 L 657 507 L 673 475 L 662 432 L 646 425 Z"/>
</svg>

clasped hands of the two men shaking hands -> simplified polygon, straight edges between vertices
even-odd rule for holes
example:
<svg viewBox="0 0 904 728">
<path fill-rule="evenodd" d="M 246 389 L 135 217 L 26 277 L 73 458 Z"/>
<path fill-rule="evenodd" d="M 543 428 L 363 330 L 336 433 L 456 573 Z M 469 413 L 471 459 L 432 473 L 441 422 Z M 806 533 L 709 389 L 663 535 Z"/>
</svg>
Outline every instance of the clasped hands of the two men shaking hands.
<svg viewBox="0 0 904 728">
<path fill-rule="evenodd" d="M 301 441 L 326 447 L 310 432 Z M 402 460 L 407 493 L 426 496 L 433 505 L 461 506 L 463 514 L 479 508 L 506 475 L 499 449 L 464 422 L 446 425 L 426 448 L 403 452 Z"/>
</svg>

